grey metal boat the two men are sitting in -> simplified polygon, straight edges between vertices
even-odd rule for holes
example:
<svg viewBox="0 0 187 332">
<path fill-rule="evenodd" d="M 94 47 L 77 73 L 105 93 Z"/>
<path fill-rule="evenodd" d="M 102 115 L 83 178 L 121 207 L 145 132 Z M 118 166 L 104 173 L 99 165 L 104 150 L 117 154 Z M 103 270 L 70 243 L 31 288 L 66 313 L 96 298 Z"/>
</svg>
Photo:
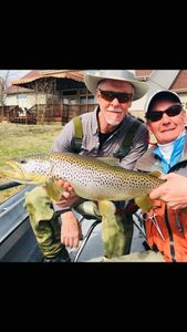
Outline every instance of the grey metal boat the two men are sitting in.
<svg viewBox="0 0 187 332">
<path fill-rule="evenodd" d="M 18 183 L 0 185 L 6 190 Z M 43 256 L 33 234 L 28 212 L 23 208 L 24 194 L 33 185 L 27 186 L 4 203 L 0 204 L 0 261 L 43 262 Z M 141 211 L 133 216 L 134 236 L 131 252 L 146 250 L 146 237 Z M 80 219 L 83 240 L 77 249 L 67 249 L 71 262 L 100 262 L 104 256 L 100 219 Z"/>
</svg>

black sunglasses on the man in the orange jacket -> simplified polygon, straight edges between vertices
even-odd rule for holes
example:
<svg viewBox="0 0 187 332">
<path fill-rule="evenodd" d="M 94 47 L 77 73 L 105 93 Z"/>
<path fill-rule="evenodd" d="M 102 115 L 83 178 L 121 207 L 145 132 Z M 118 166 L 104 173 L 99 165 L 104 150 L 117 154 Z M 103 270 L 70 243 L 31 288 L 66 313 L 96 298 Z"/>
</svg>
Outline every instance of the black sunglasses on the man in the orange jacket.
<svg viewBox="0 0 187 332">
<path fill-rule="evenodd" d="M 168 116 L 176 116 L 176 115 L 180 114 L 181 110 L 183 110 L 183 106 L 180 104 L 176 104 L 176 105 L 169 106 L 165 111 L 149 111 L 146 113 L 145 117 L 147 120 L 156 122 L 156 121 L 162 120 L 164 113 L 166 113 Z"/>
</svg>

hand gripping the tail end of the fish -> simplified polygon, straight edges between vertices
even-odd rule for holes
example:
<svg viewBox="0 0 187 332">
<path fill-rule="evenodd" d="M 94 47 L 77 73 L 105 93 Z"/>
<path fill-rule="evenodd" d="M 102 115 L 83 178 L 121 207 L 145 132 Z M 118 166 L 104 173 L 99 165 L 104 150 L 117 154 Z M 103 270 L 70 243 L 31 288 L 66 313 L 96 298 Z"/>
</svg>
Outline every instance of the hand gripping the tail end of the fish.
<svg viewBox="0 0 187 332">
<path fill-rule="evenodd" d="M 170 173 L 162 178 L 167 181 L 150 193 L 150 199 L 162 199 L 174 210 L 186 208 L 187 177 Z"/>
</svg>

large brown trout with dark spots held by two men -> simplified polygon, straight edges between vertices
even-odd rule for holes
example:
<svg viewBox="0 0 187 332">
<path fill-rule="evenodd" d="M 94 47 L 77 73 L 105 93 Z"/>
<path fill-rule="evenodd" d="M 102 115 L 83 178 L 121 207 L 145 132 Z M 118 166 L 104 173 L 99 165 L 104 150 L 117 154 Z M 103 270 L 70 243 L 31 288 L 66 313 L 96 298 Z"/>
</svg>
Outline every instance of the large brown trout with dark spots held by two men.
<svg viewBox="0 0 187 332">
<path fill-rule="evenodd" d="M 143 210 L 149 210 L 148 194 L 165 183 L 157 173 L 128 170 L 107 164 L 107 158 L 102 160 L 76 154 L 35 155 L 21 162 L 8 160 L 7 165 L 8 168 L 0 168 L 1 173 L 21 184 L 44 185 L 49 196 L 56 201 L 63 194 L 56 180 L 64 179 L 84 199 L 117 201 L 134 198 Z"/>
</svg>

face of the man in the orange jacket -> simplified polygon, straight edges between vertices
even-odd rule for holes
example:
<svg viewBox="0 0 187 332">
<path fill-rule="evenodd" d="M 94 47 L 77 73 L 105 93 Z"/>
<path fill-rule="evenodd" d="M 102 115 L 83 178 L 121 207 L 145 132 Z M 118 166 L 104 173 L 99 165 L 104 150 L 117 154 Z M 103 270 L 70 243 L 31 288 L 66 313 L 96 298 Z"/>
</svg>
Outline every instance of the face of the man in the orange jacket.
<svg viewBox="0 0 187 332">
<path fill-rule="evenodd" d="M 167 144 L 175 141 L 185 128 L 187 123 L 186 112 L 181 108 L 178 115 L 169 116 L 164 113 L 168 107 L 173 105 L 178 105 L 176 102 L 172 101 L 157 101 L 154 103 L 152 111 L 162 111 L 163 117 L 158 121 L 147 121 L 147 129 L 155 135 L 158 144 Z"/>
</svg>

